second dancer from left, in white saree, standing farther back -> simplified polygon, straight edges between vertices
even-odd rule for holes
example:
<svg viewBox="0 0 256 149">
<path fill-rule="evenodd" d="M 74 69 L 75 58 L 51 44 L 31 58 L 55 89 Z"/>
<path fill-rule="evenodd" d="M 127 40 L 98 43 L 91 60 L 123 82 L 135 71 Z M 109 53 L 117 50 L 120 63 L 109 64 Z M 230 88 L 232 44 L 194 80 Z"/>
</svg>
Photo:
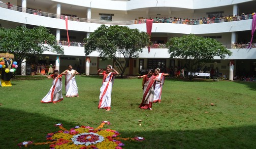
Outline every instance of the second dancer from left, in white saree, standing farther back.
<svg viewBox="0 0 256 149">
<path fill-rule="evenodd" d="M 65 90 L 66 97 L 78 97 L 78 88 L 76 84 L 75 75 L 79 74 L 76 70 L 72 69 L 71 65 L 68 66 L 69 69 L 63 71 L 61 74 L 65 76 Z"/>
</svg>

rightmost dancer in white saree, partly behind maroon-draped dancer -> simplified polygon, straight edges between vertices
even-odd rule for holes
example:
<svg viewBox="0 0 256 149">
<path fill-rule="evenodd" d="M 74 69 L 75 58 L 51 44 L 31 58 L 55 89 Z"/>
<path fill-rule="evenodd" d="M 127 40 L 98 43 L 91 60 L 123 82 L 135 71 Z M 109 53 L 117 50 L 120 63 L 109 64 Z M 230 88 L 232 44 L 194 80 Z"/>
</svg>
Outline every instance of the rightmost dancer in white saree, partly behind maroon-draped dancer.
<svg viewBox="0 0 256 149">
<path fill-rule="evenodd" d="M 160 72 L 159 68 L 156 68 L 154 71 L 156 79 L 158 81 L 156 81 L 155 83 L 153 103 L 157 103 L 157 102 L 161 103 L 162 89 L 165 83 L 165 76 L 169 75 L 169 73 L 159 73 L 159 72 Z"/>
</svg>

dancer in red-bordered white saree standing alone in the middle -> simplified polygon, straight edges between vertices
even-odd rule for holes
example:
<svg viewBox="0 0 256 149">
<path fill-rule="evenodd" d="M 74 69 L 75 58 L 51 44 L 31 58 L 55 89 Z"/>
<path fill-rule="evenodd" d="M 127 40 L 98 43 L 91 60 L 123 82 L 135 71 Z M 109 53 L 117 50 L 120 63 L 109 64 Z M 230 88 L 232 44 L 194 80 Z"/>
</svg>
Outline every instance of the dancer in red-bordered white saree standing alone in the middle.
<svg viewBox="0 0 256 149">
<path fill-rule="evenodd" d="M 114 72 L 111 72 L 112 70 Z M 107 71 L 100 73 L 101 71 L 102 69 L 98 70 L 98 74 L 103 75 L 103 82 L 102 87 L 100 89 L 101 94 L 98 109 L 103 108 L 106 109 L 106 111 L 110 111 L 112 85 L 114 83 L 115 75 L 119 75 L 119 73 L 115 69 L 112 69 L 111 65 L 107 66 Z"/>
</svg>

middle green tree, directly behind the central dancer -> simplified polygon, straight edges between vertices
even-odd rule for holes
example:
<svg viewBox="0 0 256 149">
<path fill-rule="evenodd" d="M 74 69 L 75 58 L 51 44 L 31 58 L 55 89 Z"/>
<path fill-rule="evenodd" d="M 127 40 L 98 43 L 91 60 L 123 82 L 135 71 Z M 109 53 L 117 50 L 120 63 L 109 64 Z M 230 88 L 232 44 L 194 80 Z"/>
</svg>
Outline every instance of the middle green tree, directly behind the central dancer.
<svg viewBox="0 0 256 149">
<path fill-rule="evenodd" d="M 138 53 L 142 52 L 142 47 L 150 42 L 147 33 L 118 25 L 101 25 L 84 41 L 86 43 L 84 46 L 86 56 L 97 51 L 103 60 L 113 60 L 121 77 L 129 65 L 130 59 L 138 58 Z M 124 65 L 121 63 L 123 61 L 121 57 L 125 61 Z"/>
</svg>

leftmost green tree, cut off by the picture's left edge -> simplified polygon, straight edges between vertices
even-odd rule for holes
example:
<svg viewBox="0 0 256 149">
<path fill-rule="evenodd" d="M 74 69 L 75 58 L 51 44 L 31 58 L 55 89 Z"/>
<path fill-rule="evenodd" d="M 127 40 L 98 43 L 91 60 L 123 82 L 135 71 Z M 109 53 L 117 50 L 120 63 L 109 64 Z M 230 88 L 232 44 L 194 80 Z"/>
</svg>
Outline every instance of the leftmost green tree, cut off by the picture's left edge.
<svg viewBox="0 0 256 149">
<path fill-rule="evenodd" d="M 19 64 L 23 59 L 40 57 L 46 51 L 56 54 L 64 53 L 63 48 L 56 44 L 56 37 L 45 27 L 0 28 L 0 52 L 14 54 L 15 60 Z"/>
</svg>

